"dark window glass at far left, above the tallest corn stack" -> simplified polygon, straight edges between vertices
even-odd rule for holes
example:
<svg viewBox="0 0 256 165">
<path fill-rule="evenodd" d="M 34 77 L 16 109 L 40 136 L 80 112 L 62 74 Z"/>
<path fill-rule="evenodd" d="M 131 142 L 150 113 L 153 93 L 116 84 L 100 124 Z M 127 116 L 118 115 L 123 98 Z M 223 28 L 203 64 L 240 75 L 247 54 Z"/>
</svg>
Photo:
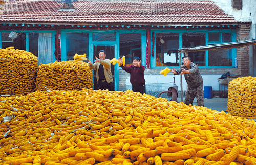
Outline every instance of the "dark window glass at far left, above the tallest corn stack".
<svg viewBox="0 0 256 165">
<path fill-rule="evenodd" d="M 15 49 L 26 50 L 26 34 L 17 33 L 15 39 L 9 38 L 10 32 L 2 32 L 2 48 L 14 46 Z"/>
</svg>

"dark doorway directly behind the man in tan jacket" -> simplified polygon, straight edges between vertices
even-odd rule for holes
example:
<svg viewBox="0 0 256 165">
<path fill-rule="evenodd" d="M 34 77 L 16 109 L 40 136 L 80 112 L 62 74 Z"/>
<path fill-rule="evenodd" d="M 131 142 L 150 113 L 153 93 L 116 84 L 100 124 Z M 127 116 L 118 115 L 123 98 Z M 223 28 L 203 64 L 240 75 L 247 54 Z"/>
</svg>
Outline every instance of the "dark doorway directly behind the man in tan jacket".
<svg viewBox="0 0 256 165">
<path fill-rule="evenodd" d="M 95 45 L 93 46 L 93 59 L 95 60 L 95 56 L 99 58 L 99 51 L 104 50 L 106 51 L 106 59 L 113 59 L 115 58 L 115 46 L 114 45 Z M 111 73 L 112 73 L 112 78 L 113 82 L 115 83 L 115 67 L 111 65 Z M 93 72 L 93 82 L 94 82 L 94 90 L 98 90 L 99 86 L 97 83 L 97 78 L 96 78 L 96 72 Z"/>
</svg>

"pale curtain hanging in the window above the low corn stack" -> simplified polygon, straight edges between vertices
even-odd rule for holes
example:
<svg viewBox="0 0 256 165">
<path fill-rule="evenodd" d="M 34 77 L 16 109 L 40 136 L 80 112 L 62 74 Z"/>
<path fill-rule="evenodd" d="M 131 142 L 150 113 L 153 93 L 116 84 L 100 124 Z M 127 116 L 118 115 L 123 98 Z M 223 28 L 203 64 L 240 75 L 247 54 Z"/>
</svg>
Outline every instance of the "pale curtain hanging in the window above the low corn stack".
<svg viewBox="0 0 256 165">
<path fill-rule="evenodd" d="M 38 36 L 38 65 L 48 64 L 52 61 L 52 33 L 39 33 Z"/>
</svg>

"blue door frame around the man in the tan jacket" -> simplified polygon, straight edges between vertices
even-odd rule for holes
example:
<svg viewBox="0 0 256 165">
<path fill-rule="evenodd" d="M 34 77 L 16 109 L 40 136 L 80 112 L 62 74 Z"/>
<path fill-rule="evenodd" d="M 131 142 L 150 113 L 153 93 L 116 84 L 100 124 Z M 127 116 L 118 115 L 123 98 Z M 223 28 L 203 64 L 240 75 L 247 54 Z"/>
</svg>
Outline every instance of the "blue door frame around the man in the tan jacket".
<svg viewBox="0 0 256 165">
<path fill-rule="evenodd" d="M 97 42 L 91 43 L 91 46 L 89 46 L 89 52 L 90 52 L 90 55 L 92 55 L 92 56 L 89 56 L 90 61 L 93 62 L 94 46 L 114 46 L 114 53 L 115 53 L 114 57 L 116 59 L 118 59 L 116 43 L 106 43 L 105 41 L 102 41 L 102 42 L 97 41 Z M 113 66 L 114 66 L 115 90 L 118 91 L 119 90 L 119 66 L 112 65 L 112 67 Z M 93 72 L 94 72 L 94 70 L 93 70 Z"/>
</svg>

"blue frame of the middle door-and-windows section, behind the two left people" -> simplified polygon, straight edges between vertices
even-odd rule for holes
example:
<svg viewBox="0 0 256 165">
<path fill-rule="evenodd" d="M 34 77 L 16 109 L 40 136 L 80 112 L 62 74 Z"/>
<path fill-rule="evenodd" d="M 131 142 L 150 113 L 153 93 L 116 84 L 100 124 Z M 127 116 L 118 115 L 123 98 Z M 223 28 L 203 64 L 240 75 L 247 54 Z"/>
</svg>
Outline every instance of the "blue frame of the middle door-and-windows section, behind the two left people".
<svg viewBox="0 0 256 165">
<path fill-rule="evenodd" d="M 115 57 L 120 57 L 120 34 L 123 33 L 140 33 L 141 34 L 141 64 L 146 64 L 146 30 L 77 30 L 77 29 L 61 29 L 61 60 L 66 61 L 67 58 L 67 34 L 68 33 L 87 33 L 88 34 L 88 52 L 87 57 L 93 61 L 95 52 L 94 46 L 114 46 Z M 86 46 L 86 45 L 85 45 Z M 134 51 L 134 50 L 132 50 Z M 107 55 L 108 56 L 108 55 Z M 122 56 L 122 55 L 121 55 Z M 115 90 L 119 90 L 119 66 L 114 66 Z"/>
</svg>

